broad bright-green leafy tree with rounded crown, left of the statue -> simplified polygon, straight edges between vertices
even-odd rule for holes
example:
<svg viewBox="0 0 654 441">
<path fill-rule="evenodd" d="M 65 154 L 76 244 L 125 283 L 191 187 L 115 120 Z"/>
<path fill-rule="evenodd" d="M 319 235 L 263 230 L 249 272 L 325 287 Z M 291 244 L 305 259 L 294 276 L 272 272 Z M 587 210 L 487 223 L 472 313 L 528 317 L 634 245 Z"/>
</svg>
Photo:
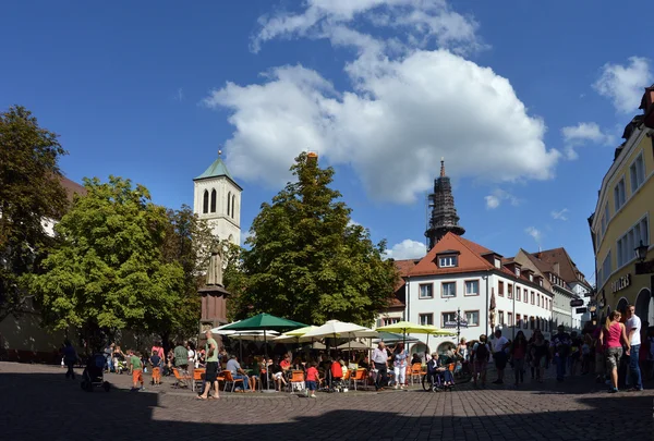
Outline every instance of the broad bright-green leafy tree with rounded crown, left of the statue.
<svg viewBox="0 0 654 441">
<path fill-rule="evenodd" d="M 142 185 L 110 176 L 84 180 L 78 197 L 56 225 L 61 245 L 33 280 L 45 323 L 75 327 L 99 347 L 116 330 L 156 332 L 175 327 L 182 265 L 164 258 L 169 219 Z"/>
</svg>

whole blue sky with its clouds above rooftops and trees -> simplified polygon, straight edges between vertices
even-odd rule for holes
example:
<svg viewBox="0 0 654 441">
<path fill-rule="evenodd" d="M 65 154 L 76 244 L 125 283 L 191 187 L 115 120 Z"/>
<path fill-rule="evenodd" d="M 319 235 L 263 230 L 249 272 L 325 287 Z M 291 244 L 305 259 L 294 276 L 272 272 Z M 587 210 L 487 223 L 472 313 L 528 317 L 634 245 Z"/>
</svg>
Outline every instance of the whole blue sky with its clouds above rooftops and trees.
<svg viewBox="0 0 654 441">
<path fill-rule="evenodd" d="M 10 2 L 0 109 L 59 133 L 70 179 L 130 177 L 169 207 L 192 204 L 222 146 L 244 230 L 317 150 L 398 258 L 422 252 L 444 156 L 465 237 L 505 256 L 565 246 L 592 278 L 586 218 L 654 82 L 647 7 Z"/>
</svg>

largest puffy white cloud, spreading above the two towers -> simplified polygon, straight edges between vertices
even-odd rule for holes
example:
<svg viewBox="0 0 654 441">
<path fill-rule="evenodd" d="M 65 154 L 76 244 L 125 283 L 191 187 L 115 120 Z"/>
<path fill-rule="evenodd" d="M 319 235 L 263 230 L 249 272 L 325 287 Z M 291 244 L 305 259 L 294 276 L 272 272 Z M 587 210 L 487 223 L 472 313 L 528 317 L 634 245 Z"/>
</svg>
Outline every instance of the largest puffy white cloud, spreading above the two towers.
<svg viewBox="0 0 654 441">
<path fill-rule="evenodd" d="M 428 189 L 440 157 L 452 177 L 553 177 L 560 154 L 545 147 L 544 122 L 529 115 L 508 79 L 450 51 L 378 40 L 348 26 L 365 12 L 376 14 L 375 23 L 398 21 L 383 14 L 393 4 L 443 11 L 444 1 L 307 4 L 300 15 L 264 19 L 259 41 L 308 35 L 319 24 L 323 38 L 356 50 L 343 66 L 352 90 L 337 91 L 317 72 L 287 65 L 272 69 L 262 84 L 228 83 L 211 91 L 204 102 L 230 111 L 234 133 L 226 144 L 227 162 L 237 176 L 278 186 L 290 179 L 288 168 L 300 151 L 316 150 L 323 161 L 352 167 L 374 199 L 395 203 L 412 203 Z M 448 29 L 440 32 L 453 33 Z"/>
</svg>

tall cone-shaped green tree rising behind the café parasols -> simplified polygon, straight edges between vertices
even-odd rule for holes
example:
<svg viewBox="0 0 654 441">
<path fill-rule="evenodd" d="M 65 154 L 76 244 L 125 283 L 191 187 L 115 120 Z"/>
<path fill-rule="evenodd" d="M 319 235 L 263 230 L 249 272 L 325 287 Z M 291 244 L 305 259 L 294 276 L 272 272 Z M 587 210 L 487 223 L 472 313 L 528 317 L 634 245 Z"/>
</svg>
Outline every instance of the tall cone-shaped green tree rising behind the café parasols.
<svg viewBox="0 0 654 441">
<path fill-rule="evenodd" d="M 385 243 L 351 222 L 351 210 L 330 188 L 334 169 L 302 154 L 272 204 L 254 219 L 240 268 L 228 289 L 235 318 L 270 313 L 304 323 L 328 319 L 371 324 L 388 306 L 398 274 L 384 260 Z"/>
</svg>

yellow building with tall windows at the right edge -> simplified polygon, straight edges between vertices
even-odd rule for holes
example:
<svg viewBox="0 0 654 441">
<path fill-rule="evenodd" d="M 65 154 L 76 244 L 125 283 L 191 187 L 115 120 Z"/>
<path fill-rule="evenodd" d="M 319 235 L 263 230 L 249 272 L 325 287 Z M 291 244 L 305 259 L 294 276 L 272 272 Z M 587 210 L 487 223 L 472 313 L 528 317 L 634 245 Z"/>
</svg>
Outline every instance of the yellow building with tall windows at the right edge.
<svg viewBox="0 0 654 441">
<path fill-rule="evenodd" d="M 649 94 L 652 88 L 646 90 Z M 645 97 L 651 96 L 647 94 Z M 644 114 L 625 128 L 626 140 L 602 180 L 589 223 L 597 271 L 597 318 L 633 304 L 641 320 L 653 326 L 654 130 L 647 126 L 652 102 L 645 101 L 643 98 L 641 106 Z M 644 258 L 637 256 L 640 245 L 646 246 Z"/>
</svg>

